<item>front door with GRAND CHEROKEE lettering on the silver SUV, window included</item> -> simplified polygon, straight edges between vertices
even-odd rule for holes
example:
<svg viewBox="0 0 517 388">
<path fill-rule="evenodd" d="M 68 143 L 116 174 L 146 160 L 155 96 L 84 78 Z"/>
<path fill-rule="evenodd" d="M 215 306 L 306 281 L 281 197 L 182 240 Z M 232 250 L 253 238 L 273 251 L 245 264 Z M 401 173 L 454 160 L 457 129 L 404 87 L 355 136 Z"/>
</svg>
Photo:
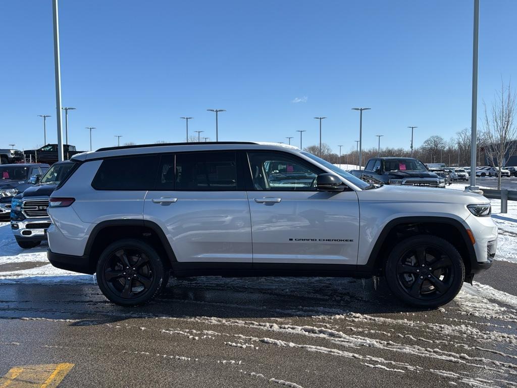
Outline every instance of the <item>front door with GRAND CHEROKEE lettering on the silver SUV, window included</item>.
<svg viewBox="0 0 517 388">
<path fill-rule="evenodd" d="M 283 152 L 249 152 L 255 263 L 357 264 L 355 191 L 317 191 L 324 171 Z"/>
</svg>

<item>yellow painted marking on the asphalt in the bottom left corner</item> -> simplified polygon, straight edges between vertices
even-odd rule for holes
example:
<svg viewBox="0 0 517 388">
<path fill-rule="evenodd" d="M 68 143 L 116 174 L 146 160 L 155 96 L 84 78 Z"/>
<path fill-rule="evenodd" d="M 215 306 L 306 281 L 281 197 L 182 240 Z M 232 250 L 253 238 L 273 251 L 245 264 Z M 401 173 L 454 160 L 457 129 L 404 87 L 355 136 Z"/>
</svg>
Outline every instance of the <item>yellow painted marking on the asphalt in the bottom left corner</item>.
<svg viewBox="0 0 517 388">
<path fill-rule="evenodd" d="M 0 388 L 55 388 L 74 364 L 21 365 L 0 379 Z"/>
</svg>

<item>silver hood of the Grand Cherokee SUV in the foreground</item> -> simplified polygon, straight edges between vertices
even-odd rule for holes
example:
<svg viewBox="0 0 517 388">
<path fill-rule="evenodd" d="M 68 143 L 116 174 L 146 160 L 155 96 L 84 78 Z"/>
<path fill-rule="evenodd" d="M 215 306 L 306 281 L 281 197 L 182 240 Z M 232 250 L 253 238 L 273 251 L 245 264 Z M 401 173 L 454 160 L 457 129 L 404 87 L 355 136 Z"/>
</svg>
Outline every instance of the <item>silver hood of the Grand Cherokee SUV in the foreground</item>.
<svg viewBox="0 0 517 388">
<path fill-rule="evenodd" d="M 375 196 L 379 202 L 421 202 L 421 203 L 489 203 L 490 200 L 472 192 L 434 187 L 384 185 L 376 189 L 357 191 L 362 197 Z M 361 198 L 359 198 L 361 199 Z"/>
</svg>

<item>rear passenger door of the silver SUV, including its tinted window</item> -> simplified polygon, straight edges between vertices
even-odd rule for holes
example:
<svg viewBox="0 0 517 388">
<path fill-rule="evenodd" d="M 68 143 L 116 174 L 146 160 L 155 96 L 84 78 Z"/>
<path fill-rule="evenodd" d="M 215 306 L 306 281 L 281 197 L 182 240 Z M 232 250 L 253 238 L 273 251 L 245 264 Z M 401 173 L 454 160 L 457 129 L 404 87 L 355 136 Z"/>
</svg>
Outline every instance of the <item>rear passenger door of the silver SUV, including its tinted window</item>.
<svg viewBox="0 0 517 388">
<path fill-rule="evenodd" d="M 144 219 L 165 232 L 178 262 L 251 267 L 251 222 L 233 151 L 164 154 Z"/>
</svg>

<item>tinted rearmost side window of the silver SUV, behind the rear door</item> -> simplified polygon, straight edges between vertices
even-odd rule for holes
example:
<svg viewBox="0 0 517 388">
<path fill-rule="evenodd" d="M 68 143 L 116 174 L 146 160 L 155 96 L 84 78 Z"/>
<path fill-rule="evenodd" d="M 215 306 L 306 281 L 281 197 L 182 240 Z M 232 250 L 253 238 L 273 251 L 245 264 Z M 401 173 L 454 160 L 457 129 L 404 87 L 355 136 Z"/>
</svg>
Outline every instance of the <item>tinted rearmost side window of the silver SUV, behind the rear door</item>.
<svg viewBox="0 0 517 388">
<path fill-rule="evenodd" d="M 158 171 L 158 155 L 105 159 L 95 174 L 96 190 L 152 190 Z"/>
</svg>

